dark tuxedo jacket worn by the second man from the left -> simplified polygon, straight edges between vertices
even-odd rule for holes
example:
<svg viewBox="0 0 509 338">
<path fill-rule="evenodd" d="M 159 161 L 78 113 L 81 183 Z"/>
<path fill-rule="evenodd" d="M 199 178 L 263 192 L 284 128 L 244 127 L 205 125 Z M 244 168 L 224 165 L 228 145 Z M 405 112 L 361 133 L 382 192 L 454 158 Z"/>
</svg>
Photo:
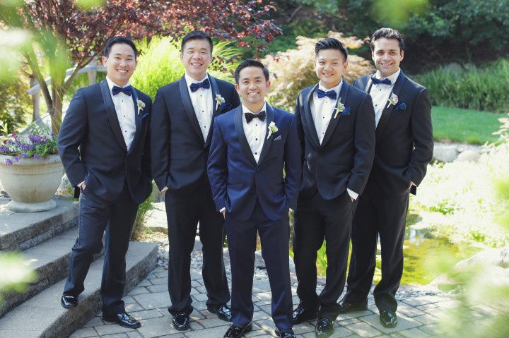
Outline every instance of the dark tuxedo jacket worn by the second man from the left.
<svg viewBox="0 0 509 338">
<path fill-rule="evenodd" d="M 209 76 L 213 99 L 213 116 L 238 107 L 235 87 Z M 225 104 L 216 109 L 216 94 Z M 212 130 L 213 126 L 211 126 Z M 204 140 L 187 90 L 185 76 L 160 87 L 154 100 L 151 120 L 152 173 L 159 189 L 171 191 L 208 184 L 206 163 L 212 133 Z"/>
</svg>

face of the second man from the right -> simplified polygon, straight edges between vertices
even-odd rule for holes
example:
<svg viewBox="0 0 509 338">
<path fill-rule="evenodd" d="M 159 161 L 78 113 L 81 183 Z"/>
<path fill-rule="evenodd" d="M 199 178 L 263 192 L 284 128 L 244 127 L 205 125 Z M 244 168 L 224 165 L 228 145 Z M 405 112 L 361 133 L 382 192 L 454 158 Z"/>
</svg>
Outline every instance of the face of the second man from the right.
<svg viewBox="0 0 509 338">
<path fill-rule="evenodd" d="M 315 71 L 320 83 L 327 89 L 339 85 L 348 61 L 344 60 L 343 53 L 337 49 L 324 49 L 318 52 L 315 60 Z"/>
</svg>

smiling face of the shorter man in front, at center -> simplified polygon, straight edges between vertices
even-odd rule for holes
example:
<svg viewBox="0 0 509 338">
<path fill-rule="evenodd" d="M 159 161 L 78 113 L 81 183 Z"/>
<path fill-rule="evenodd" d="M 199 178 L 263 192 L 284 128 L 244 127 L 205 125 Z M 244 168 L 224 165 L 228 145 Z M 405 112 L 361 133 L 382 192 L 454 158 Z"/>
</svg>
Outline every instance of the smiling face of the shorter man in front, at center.
<svg viewBox="0 0 509 338">
<path fill-rule="evenodd" d="M 246 106 L 263 105 L 269 87 L 270 81 L 265 80 L 260 67 L 243 68 L 239 73 L 239 83 L 235 83 L 235 89 Z"/>
</svg>

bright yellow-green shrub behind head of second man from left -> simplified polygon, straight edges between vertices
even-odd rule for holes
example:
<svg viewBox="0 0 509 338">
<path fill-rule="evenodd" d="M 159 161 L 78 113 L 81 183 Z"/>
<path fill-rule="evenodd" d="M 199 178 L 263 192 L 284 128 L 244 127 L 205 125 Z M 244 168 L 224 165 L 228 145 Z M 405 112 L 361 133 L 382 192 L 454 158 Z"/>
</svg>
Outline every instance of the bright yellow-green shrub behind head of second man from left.
<svg viewBox="0 0 509 338">
<path fill-rule="evenodd" d="M 138 49 L 143 52 L 139 56 L 138 66 L 131 78 L 131 84 L 148 96 L 156 97 L 158 88 L 178 80 L 185 72 L 180 61 L 180 45 L 170 37 L 154 37 L 150 44 L 147 40 L 139 42 Z M 216 78 L 233 82 L 231 73 L 238 65 L 236 58 L 238 49 L 228 42 L 218 42 L 213 47 L 213 61 L 209 73 Z"/>
</svg>

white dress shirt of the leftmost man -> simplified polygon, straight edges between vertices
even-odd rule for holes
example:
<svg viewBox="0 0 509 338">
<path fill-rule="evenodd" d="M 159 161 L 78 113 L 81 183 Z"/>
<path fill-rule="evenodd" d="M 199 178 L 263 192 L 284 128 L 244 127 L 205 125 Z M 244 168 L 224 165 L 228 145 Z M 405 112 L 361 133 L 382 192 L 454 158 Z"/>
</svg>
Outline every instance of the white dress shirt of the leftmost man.
<svg viewBox="0 0 509 338">
<path fill-rule="evenodd" d="M 122 129 L 122 136 L 127 145 L 127 151 L 131 147 L 134 134 L 136 133 L 136 110 L 134 109 L 133 98 L 124 92 L 119 92 L 117 95 L 113 95 L 112 88 L 115 83 L 106 76 L 106 82 L 110 87 L 110 95 L 112 96 L 113 104 L 115 105 L 115 111 L 117 111 L 117 118 L 119 120 L 120 129 Z M 117 87 L 127 87 L 127 85 Z M 136 107 L 137 108 L 137 107 Z"/>
</svg>

